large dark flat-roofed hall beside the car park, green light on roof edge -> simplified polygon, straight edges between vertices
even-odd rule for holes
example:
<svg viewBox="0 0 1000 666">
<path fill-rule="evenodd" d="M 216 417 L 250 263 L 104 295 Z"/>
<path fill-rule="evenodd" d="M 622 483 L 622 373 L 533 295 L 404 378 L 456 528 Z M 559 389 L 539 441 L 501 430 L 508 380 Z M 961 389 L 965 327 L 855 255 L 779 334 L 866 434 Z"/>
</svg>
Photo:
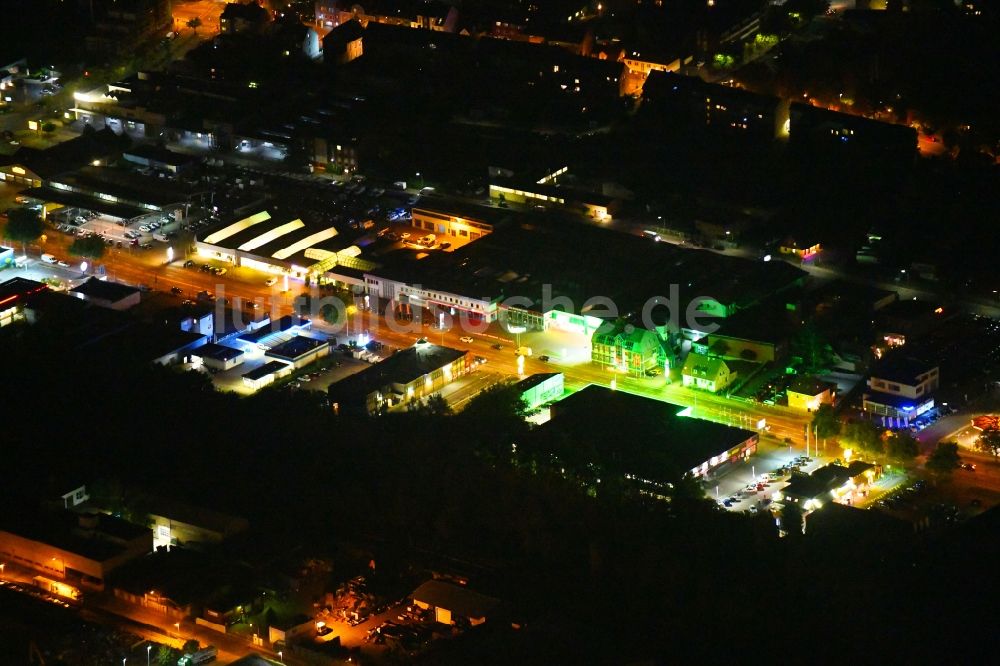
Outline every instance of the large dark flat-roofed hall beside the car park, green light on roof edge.
<svg viewBox="0 0 1000 666">
<path fill-rule="evenodd" d="M 598 473 L 616 470 L 654 495 L 665 494 L 684 474 L 711 475 L 757 450 L 756 432 L 692 418 L 690 411 L 589 385 L 553 403 L 550 420 L 526 435 L 518 450 L 559 455 L 565 442 L 574 442 L 594 452 L 590 464 Z"/>
</svg>

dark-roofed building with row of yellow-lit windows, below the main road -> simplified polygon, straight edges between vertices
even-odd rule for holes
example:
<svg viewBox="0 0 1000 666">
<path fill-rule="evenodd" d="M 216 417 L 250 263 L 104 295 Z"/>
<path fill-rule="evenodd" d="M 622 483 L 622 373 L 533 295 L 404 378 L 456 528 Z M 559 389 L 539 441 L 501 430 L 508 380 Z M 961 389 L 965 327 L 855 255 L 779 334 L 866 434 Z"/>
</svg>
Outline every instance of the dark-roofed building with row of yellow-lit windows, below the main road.
<svg viewBox="0 0 1000 666">
<path fill-rule="evenodd" d="M 331 384 L 330 404 L 337 414 L 378 414 L 426 398 L 468 369 L 467 351 L 418 340 L 383 361 Z"/>
</svg>

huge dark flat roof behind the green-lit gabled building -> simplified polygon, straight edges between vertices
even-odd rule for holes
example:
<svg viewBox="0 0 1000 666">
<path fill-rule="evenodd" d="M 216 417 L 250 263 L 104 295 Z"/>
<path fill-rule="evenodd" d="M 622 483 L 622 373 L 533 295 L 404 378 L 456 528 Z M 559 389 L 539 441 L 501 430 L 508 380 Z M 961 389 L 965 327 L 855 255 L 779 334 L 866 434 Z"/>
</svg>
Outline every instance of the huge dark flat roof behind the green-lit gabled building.
<svg viewBox="0 0 1000 666">
<path fill-rule="evenodd" d="M 783 261 L 680 248 L 549 215 L 503 226 L 453 252 L 423 259 L 392 253 L 380 260 L 371 275 L 428 289 L 484 299 L 523 296 L 537 305 L 548 285 L 552 296 L 567 296 L 577 309 L 605 296 L 621 312 L 668 297 L 671 285 L 678 285 L 682 306 L 697 296 L 748 306 L 805 276 Z"/>
</svg>

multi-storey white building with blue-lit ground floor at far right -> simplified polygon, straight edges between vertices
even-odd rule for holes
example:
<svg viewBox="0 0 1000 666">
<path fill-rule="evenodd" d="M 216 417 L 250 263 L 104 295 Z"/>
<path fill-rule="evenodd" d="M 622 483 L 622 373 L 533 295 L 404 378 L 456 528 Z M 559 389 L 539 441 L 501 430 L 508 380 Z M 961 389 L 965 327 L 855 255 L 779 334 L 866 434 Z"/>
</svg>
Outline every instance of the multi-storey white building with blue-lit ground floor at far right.
<svg viewBox="0 0 1000 666">
<path fill-rule="evenodd" d="M 936 364 L 892 354 L 869 375 L 862 409 L 889 419 L 890 425 L 906 426 L 934 407 L 933 393 L 940 383 Z"/>
</svg>

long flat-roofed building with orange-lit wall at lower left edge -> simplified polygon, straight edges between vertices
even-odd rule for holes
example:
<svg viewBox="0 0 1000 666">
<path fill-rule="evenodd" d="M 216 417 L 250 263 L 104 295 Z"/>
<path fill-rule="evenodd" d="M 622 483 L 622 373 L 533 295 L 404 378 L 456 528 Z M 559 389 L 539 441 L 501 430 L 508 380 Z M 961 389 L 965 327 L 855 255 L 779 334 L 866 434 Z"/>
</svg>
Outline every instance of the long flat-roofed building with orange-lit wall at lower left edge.
<svg viewBox="0 0 1000 666">
<path fill-rule="evenodd" d="M 152 547 L 147 527 L 114 516 L 19 500 L 0 509 L 0 558 L 73 585 L 103 589 L 110 572 Z"/>
</svg>

